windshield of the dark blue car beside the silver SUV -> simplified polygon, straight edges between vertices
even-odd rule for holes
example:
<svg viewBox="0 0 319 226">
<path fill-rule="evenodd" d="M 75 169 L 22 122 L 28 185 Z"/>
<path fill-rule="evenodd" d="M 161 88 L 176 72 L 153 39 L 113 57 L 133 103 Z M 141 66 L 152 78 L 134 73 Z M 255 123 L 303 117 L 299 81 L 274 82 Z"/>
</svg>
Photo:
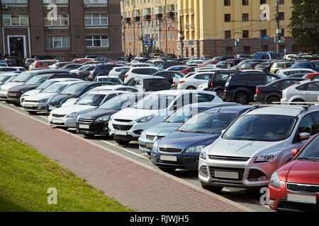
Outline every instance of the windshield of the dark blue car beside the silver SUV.
<svg viewBox="0 0 319 226">
<path fill-rule="evenodd" d="M 203 112 L 186 121 L 177 131 L 186 133 L 221 133 L 234 118 L 235 114 Z"/>
</svg>

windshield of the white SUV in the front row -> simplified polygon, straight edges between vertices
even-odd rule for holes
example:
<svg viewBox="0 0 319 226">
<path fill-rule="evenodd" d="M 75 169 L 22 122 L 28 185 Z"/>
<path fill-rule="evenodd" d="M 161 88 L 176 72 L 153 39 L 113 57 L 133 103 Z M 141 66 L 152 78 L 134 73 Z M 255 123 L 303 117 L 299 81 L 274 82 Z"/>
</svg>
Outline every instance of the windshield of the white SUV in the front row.
<svg viewBox="0 0 319 226">
<path fill-rule="evenodd" d="M 165 109 L 174 100 L 174 95 L 148 95 L 144 99 L 140 100 L 134 107 L 136 109 Z"/>
</svg>

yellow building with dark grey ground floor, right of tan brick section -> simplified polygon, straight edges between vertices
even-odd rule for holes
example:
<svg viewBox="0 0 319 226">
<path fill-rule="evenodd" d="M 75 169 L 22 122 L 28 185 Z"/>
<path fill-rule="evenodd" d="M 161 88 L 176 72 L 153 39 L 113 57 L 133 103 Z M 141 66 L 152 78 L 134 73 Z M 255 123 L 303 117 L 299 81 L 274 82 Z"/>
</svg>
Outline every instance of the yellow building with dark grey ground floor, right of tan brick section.
<svg viewBox="0 0 319 226">
<path fill-rule="evenodd" d="M 291 0 L 278 0 L 278 6 L 279 32 L 285 37 L 279 52 L 286 49 L 290 54 L 296 52 L 288 28 Z M 276 0 L 178 0 L 178 8 L 184 57 L 276 52 Z M 259 37 L 269 39 L 259 44 Z M 235 38 L 240 40 L 238 47 Z M 177 42 L 177 54 L 181 54 L 181 42 Z"/>
</svg>

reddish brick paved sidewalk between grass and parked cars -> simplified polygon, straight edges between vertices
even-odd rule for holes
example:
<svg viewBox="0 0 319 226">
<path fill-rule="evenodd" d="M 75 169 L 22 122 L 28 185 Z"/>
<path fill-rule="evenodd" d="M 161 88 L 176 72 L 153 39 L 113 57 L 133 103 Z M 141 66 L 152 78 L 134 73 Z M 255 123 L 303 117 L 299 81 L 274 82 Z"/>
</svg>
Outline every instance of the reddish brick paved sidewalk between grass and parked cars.
<svg viewBox="0 0 319 226">
<path fill-rule="evenodd" d="M 138 211 L 247 210 L 1 106 L 0 129 L 86 179 L 106 196 Z"/>
</svg>

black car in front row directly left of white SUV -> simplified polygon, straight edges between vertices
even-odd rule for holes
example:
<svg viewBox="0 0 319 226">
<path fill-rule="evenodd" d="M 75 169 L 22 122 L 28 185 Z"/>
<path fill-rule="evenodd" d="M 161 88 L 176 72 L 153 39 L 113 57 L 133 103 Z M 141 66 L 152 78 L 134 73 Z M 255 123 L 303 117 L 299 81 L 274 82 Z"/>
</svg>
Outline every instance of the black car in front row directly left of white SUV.
<svg viewBox="0 0 319 226">
<path fill-rule="evenodd" d="M 103 105 L 91 112 L 82 114 L 77 121 L 77 133 L 84 136 L 92 137 L 94 135 L 108 135 L 108 121 L 112 114 L 121 111 L 121 109 L 131 107 L 141 100 L 143 93 L 123 93 L 111 100 L 106 101 Z"/>
</svg>

